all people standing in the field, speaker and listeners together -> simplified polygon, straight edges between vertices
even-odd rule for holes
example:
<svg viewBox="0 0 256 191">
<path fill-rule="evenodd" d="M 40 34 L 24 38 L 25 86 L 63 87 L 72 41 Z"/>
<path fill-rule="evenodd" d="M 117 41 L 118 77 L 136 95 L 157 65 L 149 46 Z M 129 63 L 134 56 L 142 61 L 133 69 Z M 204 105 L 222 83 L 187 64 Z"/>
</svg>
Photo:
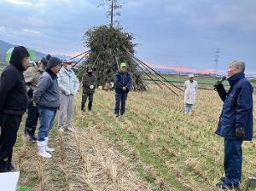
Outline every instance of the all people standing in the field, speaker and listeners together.
<svg viewBox="0 0 256 191">
<path fill-rule="evenodd" d="M 48 147 L 49 131 L 55 124 L 59 109 L 58 130 L 72 130 L 74 96 L 79 91 L 79 79 L 72 70 L 72 62 L 46 56 L 40 62 L 29 62 L 25 47 L 15 47 L 9 66 L 0 78 L 0 172 L 13 171 L 12 153 L 22 115 L 27 111 L 25 133 L 30 142 L 38 143 L 38 154 L 50 158 L 54 148 Z M 241 183 L 242 149 L 244 141 L 253 139 L 253 87 L 245 78 L 245 63 L 232 61 L 228 70 L 230 90 L 224 90 L 221 83 L 214 84 L 223 109 L 216 134 L 224 137 L 224 172 L 218 188 L 239 188 Z M 82 78 L 83 95 L 81 110 L 88 110 L 93 104 L 96 77 L 92 67 L 86 67 Z M 119 66 L 115 76 L 114 115 L 125 114 L 125 101 L 131 90 L 131 75 L 125 62 Z M 184 113 L 191 114 L 195 104 L 198 84 L 194 75 L 184 84 Z M 209 111 L 211 112 L 211 111 Z M 65 115 L 67 117 L 66 121 Z M 38 137 L 35 136 L 39 119 Z"/>
</svg>

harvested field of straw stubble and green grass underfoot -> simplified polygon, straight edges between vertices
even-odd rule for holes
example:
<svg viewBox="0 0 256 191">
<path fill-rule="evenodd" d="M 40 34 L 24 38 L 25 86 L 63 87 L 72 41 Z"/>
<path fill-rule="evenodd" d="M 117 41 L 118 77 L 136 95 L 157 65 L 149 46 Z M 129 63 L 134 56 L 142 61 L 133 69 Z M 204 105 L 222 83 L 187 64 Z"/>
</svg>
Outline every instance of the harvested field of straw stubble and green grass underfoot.
<svg viewBox="0 0 256 191">
<path fill-rule="evenodd" d="M 132 92 L 121 119 L 113 117 L 111 91 L 96 91 L 92 113 L 79 111 L 80 101 L 79 95 L 74 131 L 51 134 L 52 159 L 38 158 L 20 130 L 20 185 L 37 191 L 216 189 L 224 173 L 224 142 L 214 135 L 222 104 L 216 92 L 199 90 L 191 116 L 183 114 L 182 95 L 154 86 Z M 243 153 L 244 182 L 256 175 L 256 143 L 244 142 Z"/>
</svg>

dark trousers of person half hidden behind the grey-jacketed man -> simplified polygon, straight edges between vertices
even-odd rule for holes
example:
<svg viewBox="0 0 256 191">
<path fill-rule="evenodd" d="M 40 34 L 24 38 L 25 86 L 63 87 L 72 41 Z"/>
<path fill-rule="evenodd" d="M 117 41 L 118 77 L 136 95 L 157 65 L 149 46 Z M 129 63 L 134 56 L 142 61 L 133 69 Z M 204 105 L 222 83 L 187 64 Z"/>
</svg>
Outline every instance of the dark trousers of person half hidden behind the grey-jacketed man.
<svg viewBox="0 0 256 191">
<path fill-rule="evenodd" d="M 33 106 L 33 102 L 31 101 L 27 108 L 27 118 L 25 124 L 25 133 L 26 135 L 33 136 L 35 135 L 35 131 L 37 129 L 38 124 L 38 108 Z"/>
</svg>

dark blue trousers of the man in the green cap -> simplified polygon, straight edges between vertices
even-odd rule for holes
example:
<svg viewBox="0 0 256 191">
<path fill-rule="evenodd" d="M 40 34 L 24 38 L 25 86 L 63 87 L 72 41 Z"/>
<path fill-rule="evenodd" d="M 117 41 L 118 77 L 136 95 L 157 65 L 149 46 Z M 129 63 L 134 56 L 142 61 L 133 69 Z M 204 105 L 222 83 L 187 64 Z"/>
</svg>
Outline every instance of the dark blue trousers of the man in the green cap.
<svg viewBox="0 0 256 191">
<path fill-rule="evenodd" d="M 125 114 L 125 104 L 126 104 L 127 96 L 128 96 L 128 93 L 126 93 L 126 92 L 115 94 L 114 114 L 116 114 L 116 115 Z"/>
</svg>

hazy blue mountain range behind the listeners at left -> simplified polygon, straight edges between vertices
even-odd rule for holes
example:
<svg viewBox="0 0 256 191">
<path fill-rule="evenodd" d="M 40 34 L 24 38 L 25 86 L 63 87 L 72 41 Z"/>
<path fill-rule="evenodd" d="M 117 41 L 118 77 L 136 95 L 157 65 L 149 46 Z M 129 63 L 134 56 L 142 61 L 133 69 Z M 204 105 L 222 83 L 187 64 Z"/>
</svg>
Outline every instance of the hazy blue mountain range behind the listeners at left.
<svg viewBox="0 0 256 191">
<path fill-rule="evenodd" d="M 7 43 L 3 40 L 0 40 L 0 61 L 5 61 L 5 55 L 6 55 L 6 52 L 11 49 L 11 48 L 14 48 L 16 45 L 14 44 L 11 44 L 11 43 Z M 39 52 L 37 50 L 36 51 L 36 55 L 38 57 L 38 60 L 41 60 L 43 57 L 45 57 L 47 54 L 46 53 L 42 53 L 42 52 Z M 65 59 L 70 59 L 71 56 L 67 56 L 67 55 L 53 55 L 55 57 L 58 57 L 59 59 L 61 59 L 62 61 L 64 61 Z M 77 61 L 77 60 L 75 60 Z"/>
</svg>

